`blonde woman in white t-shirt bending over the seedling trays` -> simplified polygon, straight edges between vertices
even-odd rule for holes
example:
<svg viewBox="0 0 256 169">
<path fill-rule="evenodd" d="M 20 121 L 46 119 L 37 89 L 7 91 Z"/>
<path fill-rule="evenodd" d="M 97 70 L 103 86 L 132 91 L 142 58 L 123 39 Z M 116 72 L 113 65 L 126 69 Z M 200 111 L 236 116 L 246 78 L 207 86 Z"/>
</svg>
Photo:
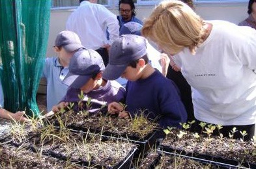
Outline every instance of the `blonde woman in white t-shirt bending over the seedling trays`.
<svg viewBox="0 0 256 169">
<path fill-rule="evenodd" d="M 205 21 L 185 3 L 163 1 L 142 28 L 180 67 L 192 86 L 198 123 L 246 131 L 252 138 L 256 116 L 256 31 L 228 21 Z M 242 137 L 236 132 L 236 138 Z"/>
</svg>

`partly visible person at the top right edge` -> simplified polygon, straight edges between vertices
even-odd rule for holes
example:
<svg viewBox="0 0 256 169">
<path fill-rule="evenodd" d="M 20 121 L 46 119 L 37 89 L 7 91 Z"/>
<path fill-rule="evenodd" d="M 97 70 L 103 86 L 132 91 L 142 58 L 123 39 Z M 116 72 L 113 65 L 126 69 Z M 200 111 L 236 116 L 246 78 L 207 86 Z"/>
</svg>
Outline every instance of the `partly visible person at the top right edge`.
<svg viewBox="0 0 256 169">
<path fill-rule="evenodd" d="M 240 22 L 238 25 L 248 26 L 256 29 L 256 1 L 255 0 L 249 0 L 247 12 L 249 14 L 249 17 L 244 21 Z"/>
</svg>

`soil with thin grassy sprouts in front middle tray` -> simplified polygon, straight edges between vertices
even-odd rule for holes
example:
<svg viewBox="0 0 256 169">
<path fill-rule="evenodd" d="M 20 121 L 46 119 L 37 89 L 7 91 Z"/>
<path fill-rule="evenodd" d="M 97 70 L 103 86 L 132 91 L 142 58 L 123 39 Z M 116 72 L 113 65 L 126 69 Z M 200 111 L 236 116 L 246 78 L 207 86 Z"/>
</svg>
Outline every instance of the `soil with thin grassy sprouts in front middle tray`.
<svg viewBox="0 0 256 169">
<path fill-rule="evenodd" d="M 134 146 L 130 142 L 118 140 L 102 142 L 101 136 L 81 132 L 71 133 L 68 129 L 50 128 L 44 131 L 46 134 L 35 135 L 29 140 L 33 151 L 42 151 L 53 157 L 70 159 L 79 164 L 91 162 L 102 166 L 115 166 L 125 159 Z"/>
</svg>

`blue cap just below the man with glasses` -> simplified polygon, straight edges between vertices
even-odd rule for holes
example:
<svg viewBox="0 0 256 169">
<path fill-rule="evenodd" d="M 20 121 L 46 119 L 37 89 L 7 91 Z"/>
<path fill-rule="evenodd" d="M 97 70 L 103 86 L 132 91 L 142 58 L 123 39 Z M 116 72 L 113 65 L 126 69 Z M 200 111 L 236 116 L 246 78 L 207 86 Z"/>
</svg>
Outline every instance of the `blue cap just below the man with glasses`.
<svg viewBox="0 0 256 169">
<path fill-rule="evenodd" d="M 122 34 L 136 34 L 141 36 L 141 28 L 143 25 L 140 23 L 137 23 L 135 21 L 129 21 L 128 23 L 125 23 L 122 25 L 119 31 L 119 35 L 121 36 Z"/>
</svg>

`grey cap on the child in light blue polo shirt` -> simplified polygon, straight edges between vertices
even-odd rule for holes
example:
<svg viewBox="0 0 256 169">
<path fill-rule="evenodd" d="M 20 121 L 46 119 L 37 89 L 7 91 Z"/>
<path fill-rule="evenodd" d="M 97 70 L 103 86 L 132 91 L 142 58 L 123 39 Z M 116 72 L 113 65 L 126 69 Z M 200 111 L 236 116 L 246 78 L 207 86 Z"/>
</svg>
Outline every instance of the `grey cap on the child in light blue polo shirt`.
<svg viewBox="0 0 256 169">
<path fill-rule="evenodd" d="M 78 34 L 72 31 L 61 31 L 56 37 L 55 46 L 64 47 L 68 52 L 76 51 L 80 48 L 85 48 L 81 44 Z"/>
</svg>

